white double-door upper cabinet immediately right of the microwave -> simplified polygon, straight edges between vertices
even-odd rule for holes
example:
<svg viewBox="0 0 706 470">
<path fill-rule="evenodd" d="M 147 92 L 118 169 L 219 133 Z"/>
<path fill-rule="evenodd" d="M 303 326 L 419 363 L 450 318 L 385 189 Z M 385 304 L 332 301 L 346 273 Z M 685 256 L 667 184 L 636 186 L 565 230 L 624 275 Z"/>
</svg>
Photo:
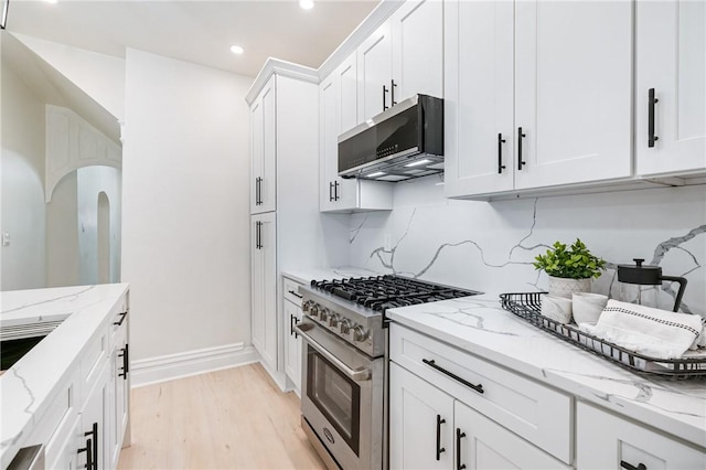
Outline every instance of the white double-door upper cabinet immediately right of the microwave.
<svg viewBox="0 0 706 470">
<path fill-rule="evenodd" d="M 445 4 L 447 196 L 631 175 L 630 2 Z"/>
</svg>

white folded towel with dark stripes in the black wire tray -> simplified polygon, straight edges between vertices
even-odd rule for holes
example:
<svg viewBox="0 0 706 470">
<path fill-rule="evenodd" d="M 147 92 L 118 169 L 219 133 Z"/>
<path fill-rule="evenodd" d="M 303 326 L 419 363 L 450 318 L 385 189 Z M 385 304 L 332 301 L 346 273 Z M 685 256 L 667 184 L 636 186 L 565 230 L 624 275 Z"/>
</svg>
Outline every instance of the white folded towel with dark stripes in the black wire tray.
<svg viewBox="0 0 706 470">
<path fill-rule="evenodd" d="M 627 350 L 656 359 L 678 359 L 706 344 L 704 320 L 698 314 L 674 313 L 635 303 L 609 300 L 598 323 L 579 324 L 582 331 Z"/>
</svg>

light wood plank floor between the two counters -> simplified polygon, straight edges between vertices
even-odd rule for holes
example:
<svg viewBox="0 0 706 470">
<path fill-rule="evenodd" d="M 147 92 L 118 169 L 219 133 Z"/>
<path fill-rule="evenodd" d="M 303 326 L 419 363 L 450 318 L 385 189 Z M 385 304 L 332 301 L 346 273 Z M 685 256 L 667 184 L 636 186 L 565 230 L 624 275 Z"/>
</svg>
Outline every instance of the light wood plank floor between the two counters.
<svg viewBox="0 0 706 470">
<path fill-rule="evenodd" d="M 259 364 L 135 388 L 132 446 L 118 469 L 324 469 Z"/>
</svg>

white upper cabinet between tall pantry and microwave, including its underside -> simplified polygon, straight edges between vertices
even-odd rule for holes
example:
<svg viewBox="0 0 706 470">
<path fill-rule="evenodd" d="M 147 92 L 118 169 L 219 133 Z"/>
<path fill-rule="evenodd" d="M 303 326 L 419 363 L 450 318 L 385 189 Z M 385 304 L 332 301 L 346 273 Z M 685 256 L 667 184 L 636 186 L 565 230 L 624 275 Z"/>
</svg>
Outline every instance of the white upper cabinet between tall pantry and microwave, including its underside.
<svg viewBox="0 0 706 470">
<path fill-rule="evenodd" d="M 339 136 L 357 125 L 356 54 L 319 85 L 321 212 L 392 210 L 391 183 L 339 177 Z"/>
</svg>

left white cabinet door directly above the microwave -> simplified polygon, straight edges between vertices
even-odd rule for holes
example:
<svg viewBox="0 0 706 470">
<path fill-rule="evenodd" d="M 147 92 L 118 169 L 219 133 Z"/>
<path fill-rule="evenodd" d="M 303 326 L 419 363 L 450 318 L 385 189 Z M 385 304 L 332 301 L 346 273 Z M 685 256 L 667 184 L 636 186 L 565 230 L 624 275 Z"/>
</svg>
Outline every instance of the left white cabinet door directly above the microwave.
<svg viewBox="0 0 706 470">
<path fill-rule="evenodd" d="M 357 47 L 359 121 L 381 114 L 392 103 L 393 49 L 391 21 Z"/>
</svg>

